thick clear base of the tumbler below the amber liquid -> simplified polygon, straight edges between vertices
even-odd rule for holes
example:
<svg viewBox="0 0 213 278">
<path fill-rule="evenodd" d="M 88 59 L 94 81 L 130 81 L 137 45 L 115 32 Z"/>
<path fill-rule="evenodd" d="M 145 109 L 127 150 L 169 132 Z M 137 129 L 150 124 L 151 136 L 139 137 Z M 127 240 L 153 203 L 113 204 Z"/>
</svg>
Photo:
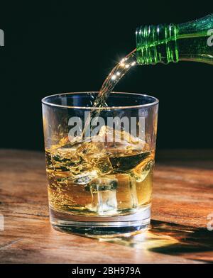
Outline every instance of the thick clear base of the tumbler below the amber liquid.
<svg viewBox="0 0 213 278">
<path fill-rule="evenodd" d="M 54 211 L 50 208 L 50 223 L 53 228 L 66 233 L 88 236 L 128 236 L 141 233 L 149 228 L 151 205 L 137 209 L 136 213 L 125 216 L 76 216 Z"/>
</svg>

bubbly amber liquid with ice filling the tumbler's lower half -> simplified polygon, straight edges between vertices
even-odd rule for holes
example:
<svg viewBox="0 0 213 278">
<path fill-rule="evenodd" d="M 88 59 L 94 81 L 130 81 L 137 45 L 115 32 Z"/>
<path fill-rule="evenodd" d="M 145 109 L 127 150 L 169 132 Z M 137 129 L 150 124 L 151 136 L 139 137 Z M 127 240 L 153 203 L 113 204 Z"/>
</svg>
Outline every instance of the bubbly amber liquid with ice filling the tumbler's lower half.
<svg viewBox="0 0 213 278">
<path fill-rule="evenodd" d="M 70 143 L 63 138 L 45 150 L 45 155 L 54 211 L 119 216 L 136 213 L 151 203 L 155 154 L 142 141 L 106 145 Z"/>
</svg>

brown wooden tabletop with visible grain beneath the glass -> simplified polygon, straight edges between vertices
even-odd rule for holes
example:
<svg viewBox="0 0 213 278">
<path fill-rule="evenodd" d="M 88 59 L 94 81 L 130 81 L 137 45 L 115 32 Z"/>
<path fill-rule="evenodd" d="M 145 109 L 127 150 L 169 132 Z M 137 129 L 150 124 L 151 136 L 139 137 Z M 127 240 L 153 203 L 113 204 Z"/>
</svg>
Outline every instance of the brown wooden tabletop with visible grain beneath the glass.
<svg viewBox="0 0 213 278">
<path fill-rule="evenodd" d="M 158 151 L 151 230 L 110 240 L 50 227 L 42 152 L 0 150 L 0 157 L 1 263 L 213 262 L 211 150 Z"/>
</svg>

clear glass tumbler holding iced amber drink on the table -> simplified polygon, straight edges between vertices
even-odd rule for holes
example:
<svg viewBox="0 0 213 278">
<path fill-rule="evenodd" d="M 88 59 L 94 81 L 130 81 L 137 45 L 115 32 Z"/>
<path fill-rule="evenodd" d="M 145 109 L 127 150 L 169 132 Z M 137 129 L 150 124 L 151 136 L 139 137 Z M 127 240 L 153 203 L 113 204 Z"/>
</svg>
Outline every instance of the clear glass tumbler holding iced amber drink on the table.
<svg viewBox="0 0 213 278">
<path fill-rule="evenodd" d="M 112 92 L 55 94 L 42 100 L 50 223 L 86 235 L 146 230 L 158 99 Z"/>
</svg>

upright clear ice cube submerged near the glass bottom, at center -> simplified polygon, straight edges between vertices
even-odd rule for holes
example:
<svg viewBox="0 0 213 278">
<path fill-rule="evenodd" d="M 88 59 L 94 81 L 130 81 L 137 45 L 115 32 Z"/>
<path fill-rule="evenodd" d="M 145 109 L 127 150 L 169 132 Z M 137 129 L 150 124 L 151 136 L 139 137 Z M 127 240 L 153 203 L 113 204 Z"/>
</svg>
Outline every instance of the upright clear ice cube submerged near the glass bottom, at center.
<svg viewBox="0 0 213 278">
<path fill-rule="evenodd" d="M 102 216 L 116 213 L 117 182 L 114 177 L 98 177 L 88 184 L 87 190 L 92 194 L 92 203 L 86 206 L 89 211 L 97 212 Z"/>
</svg>

